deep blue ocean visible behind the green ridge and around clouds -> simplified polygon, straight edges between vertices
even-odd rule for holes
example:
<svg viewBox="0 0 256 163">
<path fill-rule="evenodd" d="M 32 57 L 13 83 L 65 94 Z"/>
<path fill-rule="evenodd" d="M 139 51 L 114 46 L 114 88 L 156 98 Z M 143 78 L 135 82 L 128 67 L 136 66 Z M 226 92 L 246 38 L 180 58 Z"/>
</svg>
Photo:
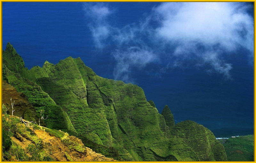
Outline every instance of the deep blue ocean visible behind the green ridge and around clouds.
<svg viewBox="0 0 256 163">
<path fill-rule="evenodd" d="M 114 19 L 120 27 L 136 23 L 158 4 L 110 3 L 118 9 Z M 56 64 L 68 56 L 80 57 L 97 75 L 114 79 L 112 47 L 96 50 L 87 21 L 82 3 L 3 2 L 3 50 L 10 42 L 29 69 L 45 60 Z M 156 76 L 151 72 L 162 65 L 153 63 L 131 74 L 160 113 L 166 104 L 171 108 L 176 123 L 196 121 L 216 137 L 253 134 L 253 66 L 244 53 L 226 55 L 232 79 L 193 66 Z"/>
</svg>

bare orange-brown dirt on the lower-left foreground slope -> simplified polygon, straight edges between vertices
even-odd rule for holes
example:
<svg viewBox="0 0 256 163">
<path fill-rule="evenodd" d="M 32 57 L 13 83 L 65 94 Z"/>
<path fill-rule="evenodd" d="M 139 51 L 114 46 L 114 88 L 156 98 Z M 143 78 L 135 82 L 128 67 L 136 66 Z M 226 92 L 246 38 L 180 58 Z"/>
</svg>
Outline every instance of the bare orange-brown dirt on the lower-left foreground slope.
<svg viewBox="0 0 256 163">
<path fill-rule="evenodd" d="M 9 116 L 7 122 L 12 121 L 11 117 L 15 118 L 15 116 Z M 4 116 L 4 118 L 6 117 Z M 18 119 L 18 117 L 16 118 Z M 14 136 L 11 137 L 13 143 L 20 146 L 28 157 L 30 156 L 27 152 L 28 146 L 35 145 L 35 142 L 40 140 L 44 153 L 55 161 L 116 161 L 113 158 L 107 158 L 100 153 L 92 151 L 92 149 L 85 147 L 80 139 L 69 136 L 65 132 L 40 126 L 38 126 L 37 129 L 33 129 L 33 127 L 30 127 L 30 124 L 24 119 L 20 120 L 20 123 L 18 123 L 16 127 L 19 128 L 20 131 L 25 132 L 15 132 Z M 61 135 L 61 137 L 58 137 L 59 135 Z M 10 160 L 15 161 L 15 158 L 12 157 Z"/>
</svg>

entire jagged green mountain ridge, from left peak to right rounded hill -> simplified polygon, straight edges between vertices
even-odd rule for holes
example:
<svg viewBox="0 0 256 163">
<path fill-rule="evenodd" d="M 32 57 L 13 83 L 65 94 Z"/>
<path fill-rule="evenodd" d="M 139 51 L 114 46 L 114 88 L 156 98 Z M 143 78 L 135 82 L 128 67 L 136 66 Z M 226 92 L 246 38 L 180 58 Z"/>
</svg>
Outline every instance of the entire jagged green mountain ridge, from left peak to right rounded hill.
<svg viewBox="0 0 256 163">
<path fill-rule="evenodd" d="M 95 152 L 125 161 L 227 160 L 210 130 L 193 121 L 175 124 L 168 106 L 159 114 L 140 87 L 102 78 L 80 58 L 24 65 L 8 43 L 3 79 L 28 98 L 37 119 L 43 110 L 43 125 L 77 136 Z"/>
</svg>

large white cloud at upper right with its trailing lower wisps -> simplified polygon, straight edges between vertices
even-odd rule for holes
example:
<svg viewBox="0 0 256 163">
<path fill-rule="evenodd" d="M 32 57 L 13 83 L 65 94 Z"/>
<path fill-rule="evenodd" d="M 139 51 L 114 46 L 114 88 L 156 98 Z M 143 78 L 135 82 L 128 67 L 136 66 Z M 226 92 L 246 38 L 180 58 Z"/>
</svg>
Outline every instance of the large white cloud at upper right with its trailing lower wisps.
<svg viewBox="0 0 256 163">
<path fill-rule="evenodd" d="M 239 7 L 241 3 L 163 3 L 154 9 L 161 18 L 156 37 L 167 45 L 178 43 L 174 55 L 196 55 L 230 78 L 232 65 L 220 59 L 223 51 L 233 53 L 242 46 L 253 56 L 253 19 Z"/>
</svg>

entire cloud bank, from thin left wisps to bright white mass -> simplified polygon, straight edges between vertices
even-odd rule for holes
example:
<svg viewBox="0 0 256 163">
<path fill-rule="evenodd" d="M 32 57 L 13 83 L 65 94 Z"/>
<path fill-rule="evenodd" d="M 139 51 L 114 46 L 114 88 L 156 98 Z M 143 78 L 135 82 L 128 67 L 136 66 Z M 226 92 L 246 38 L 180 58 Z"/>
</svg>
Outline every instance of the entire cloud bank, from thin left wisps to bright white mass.
<svg viewBox="0 0 256 163">
<path fill-rule="evenodd" d="M 115 45 L 113 74 L 126 82 L 132 81 L 131 68 L 166 60 L 159 72 L 194 60 L 194 66 L 210 66 L 206 71 L 231 79 L 232 64 L 224 55 L 244 48 L 253 59 L 253 18 L 247 10 L 245 3 L 169 2 L 152 8 L 137 24 L 117 28 L 109 20 L 115 10 L 103 3 L 84 4 L 85 15 L 94 20 L 88 25 L 95 46 Z"/>
</svg>

